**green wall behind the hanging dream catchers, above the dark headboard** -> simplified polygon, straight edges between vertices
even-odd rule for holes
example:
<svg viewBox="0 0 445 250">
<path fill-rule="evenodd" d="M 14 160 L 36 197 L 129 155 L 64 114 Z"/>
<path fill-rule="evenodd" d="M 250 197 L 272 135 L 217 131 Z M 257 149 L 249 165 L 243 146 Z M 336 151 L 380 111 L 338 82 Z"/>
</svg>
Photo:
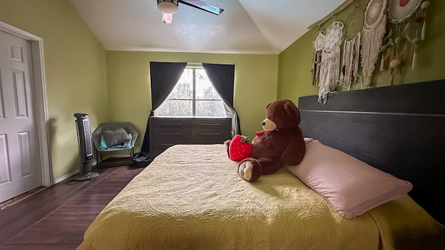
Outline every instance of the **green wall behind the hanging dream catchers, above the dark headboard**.
<svg viewBox="0 0 445 250">
<path fill-rule="evenodd" d="M 445 78 L 445 1 L 431 1 L 426 17 L 426 40 L 419 44 L 418 64 L 415 69 L 406 69 L 404 73 L 396 78 L 397 84 L 418 83 L 422 81 L 433 81 Z M 350 12 L 357 6 L 364 10 L 368 0 L 357 0 L 347 8 L 335 15 L 334 20 L 345 22 Z M 332 19 L 327 20 L 320 28 L 325 31 L 332 23 Z M 301 38 L 293 42 L 278 57 L 278 88 L 277 99 L 291 99 L 298 103 L 298 97 L 314 95 L 318 93 L 318 88 L 312 86 L 312 56 L 313 46 L 318 27 L 312 28 Z M 343 46 L 343 44 L 342 44 Z M 391 74 L 380 72 L 380 60 L 375 66 L 371 88 L 391 85 Z M 359 85 L 353 85 L 352 89 L 358 89 Z M 343 89 L 339 86 L 337 91 Z M 329 101 L 329 96 L 327 97 Z"/>
</svg>

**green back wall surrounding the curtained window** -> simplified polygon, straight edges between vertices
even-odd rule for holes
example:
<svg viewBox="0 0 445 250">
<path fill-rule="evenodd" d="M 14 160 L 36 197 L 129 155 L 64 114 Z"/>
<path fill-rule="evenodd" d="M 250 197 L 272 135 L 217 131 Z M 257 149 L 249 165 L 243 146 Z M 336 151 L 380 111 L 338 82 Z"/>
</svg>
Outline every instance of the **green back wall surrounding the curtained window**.
<svg viewBox="0 0 445 250">
<path fill-rule="evenodd" d="M 235 65 L 234 108 L 241 132 L 254 138 L 266 115 L 266 105 L 277 96 L 277 55 L 106 51 L 108 117 L 132 122 L 139 131 L 140 149 L 152 109 L 149 62 L 221 63 Z"/>
</svg>

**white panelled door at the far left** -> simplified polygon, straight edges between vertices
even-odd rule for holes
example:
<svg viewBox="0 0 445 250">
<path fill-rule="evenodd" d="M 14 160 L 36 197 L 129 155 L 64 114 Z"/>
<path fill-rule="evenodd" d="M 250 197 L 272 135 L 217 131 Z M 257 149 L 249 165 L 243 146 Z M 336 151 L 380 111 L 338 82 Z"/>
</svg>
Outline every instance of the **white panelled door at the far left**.
<svg viewBox="0 0 445 250">
<path fill-rule="evenodd" d="M 42 185 L 31 42 L 0 31 L 0 202 Z"/>
</svg>

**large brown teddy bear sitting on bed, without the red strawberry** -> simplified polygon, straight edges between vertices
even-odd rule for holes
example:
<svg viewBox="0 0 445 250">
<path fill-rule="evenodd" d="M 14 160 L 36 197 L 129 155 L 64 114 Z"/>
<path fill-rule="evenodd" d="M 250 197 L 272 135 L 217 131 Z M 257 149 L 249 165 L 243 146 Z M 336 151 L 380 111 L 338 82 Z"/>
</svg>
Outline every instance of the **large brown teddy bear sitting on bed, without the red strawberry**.
<svg viewBox="0 0 445 250">
<path fill-rule="evenodd" d="M 257 181 L 284 165 L 298 165 L 305 156 L 306 144 L 300 127 L 300 110 L 291 100 L 278 100 L 266 106 L 263 131 L 252 140 L 252 153 L 238 164 L 238 175 L 245 181 Z M 233 140 L 233 139 L 232 139 Z M 224 142 L 229 154 L 231 140 Z"/>
</svg>

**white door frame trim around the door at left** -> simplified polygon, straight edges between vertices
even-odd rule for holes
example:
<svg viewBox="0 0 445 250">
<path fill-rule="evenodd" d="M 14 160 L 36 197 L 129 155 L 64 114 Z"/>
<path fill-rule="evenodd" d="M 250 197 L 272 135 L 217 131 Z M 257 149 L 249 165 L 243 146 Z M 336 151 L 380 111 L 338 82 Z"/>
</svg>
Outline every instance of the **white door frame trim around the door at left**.
<svg viewBox="0 0 445 250">
<path fill-rule="evenodd" d="M 33 109 L 38 131 L 38 147 L 40 153 L 40 167 L 42 171 L 42 185 L 49 187 L 54 184 L 51 166 L 51 151 L 49 150 L 49 118 L 47 103 L 47 84 L 44 74 L 43 39 L 37 35 L 23 31 L 20 28 L 0 21 L 0 31 L 10 33 L 31 42 L 33 63 Z"/>
</svg>

